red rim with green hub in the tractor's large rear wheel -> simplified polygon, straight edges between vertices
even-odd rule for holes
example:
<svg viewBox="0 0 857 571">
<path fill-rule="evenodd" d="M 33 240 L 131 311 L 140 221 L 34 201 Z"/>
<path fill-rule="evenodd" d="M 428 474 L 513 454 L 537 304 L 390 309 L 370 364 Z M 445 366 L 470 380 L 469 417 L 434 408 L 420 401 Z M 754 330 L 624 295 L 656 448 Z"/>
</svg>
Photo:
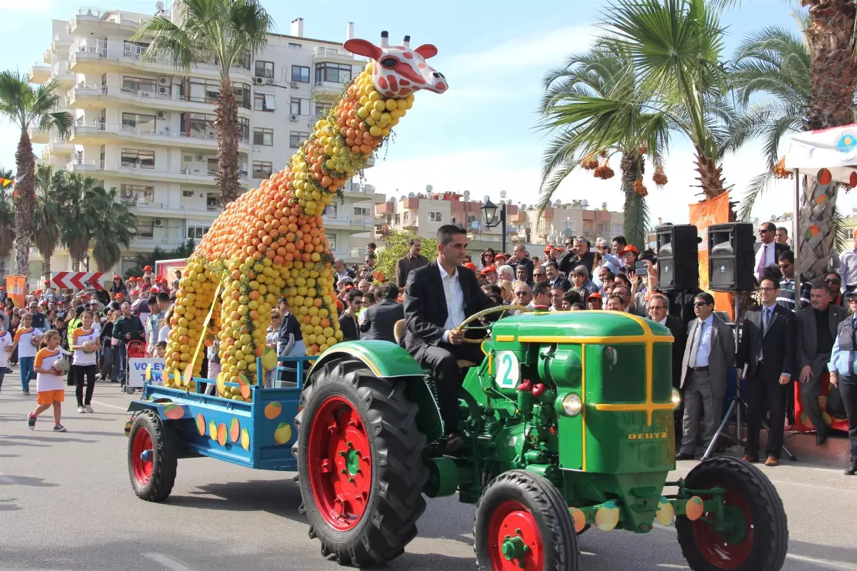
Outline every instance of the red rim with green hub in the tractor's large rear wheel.
<svg viewBox="0 0 857 571">
<path fill-rule="evenodd" d="M 357 408 L 344 396 L 321 403 L 309 427 L 307 471 L 319 514 L 340 532 L 357 526 L 369 505 L 372 456 Z"/>
</svg>

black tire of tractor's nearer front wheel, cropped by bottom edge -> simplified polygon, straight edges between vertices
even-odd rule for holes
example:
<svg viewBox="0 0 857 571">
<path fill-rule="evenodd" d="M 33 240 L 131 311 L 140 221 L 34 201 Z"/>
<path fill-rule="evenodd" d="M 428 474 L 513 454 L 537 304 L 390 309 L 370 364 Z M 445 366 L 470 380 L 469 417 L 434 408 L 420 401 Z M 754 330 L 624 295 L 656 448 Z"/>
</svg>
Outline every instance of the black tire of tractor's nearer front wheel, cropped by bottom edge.
<svg viewBox="0 0 857 571">
<path fill-rule="evenodd" d="M 494 571 L 491 562 L 494 551 L 491 546 L 493 517 L 498 509 L 509 502 L 518 503 L 529 512 L 541 536 L 542 567 L 532 561 L 525 561 L 524 569 L 577 571 L 578 534 L 574 532 L 574 521 L 565 499 L 547 479 L 526 470 L 501 473 L 488 484 L 476 504 L 473 550 L 480 571 Z M 527 540 L 524 532 L 524 543 Z"/>
</svg>

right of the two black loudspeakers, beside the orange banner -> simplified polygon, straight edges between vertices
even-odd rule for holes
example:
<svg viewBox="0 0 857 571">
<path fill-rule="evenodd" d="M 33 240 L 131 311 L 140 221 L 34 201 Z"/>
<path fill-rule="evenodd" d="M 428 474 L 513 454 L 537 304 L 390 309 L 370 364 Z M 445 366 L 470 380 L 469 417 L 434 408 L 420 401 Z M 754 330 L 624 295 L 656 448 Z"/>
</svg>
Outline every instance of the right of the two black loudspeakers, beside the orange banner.
<svg viewBox="0 0 857 571">
<path fill-rule="evenodd" d="M 714 291 L 750 291 L 756 286 L 752 223 L 708 227 L 708 282 Z"/>
</svg>

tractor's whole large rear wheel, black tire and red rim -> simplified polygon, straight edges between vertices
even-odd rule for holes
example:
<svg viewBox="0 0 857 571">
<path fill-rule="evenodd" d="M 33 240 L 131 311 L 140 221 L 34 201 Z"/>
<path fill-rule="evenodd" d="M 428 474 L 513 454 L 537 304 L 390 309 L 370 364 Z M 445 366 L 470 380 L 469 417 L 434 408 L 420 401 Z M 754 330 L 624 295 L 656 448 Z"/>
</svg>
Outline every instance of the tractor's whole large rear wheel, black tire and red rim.
<svg viewBox="0 0 857 571">
<path fill-rule="evenodd" d="M 309 537 L 342 565 L 391 561 L 426 507 L 426 437 L 405 383 L 334 360 L 313 373 L 302 401 L 294 451 Z"/>
</svg>

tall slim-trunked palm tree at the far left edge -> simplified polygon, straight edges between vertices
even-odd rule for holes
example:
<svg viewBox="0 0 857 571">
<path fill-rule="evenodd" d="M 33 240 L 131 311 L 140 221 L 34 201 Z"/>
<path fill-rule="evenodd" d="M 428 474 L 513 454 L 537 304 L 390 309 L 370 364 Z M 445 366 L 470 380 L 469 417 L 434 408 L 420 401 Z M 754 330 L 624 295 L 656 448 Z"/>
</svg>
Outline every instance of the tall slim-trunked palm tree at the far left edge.
<svg viewBox="0 0 857 571">
<path fill-rule="evenodd" d="M 17 167 L 15 188 L 15 271 L 27 276 L 30 263 L 30 238 L 33 235 L 33 211 L 36 208 L 35 188 L 36 159 L 33 143 L 27 129 L 53 129 L 61 138 L 71 133 L 74 120 L 70 113 L 54 111 L 59 96 L 54 94 L 57 80 L 41 86 L 30 85 L 30 77 L 18 72 L 0 72 L 0 115 L 6 116 L 20 129 L 18 151 L 15 152 Z"/>
</svg>

